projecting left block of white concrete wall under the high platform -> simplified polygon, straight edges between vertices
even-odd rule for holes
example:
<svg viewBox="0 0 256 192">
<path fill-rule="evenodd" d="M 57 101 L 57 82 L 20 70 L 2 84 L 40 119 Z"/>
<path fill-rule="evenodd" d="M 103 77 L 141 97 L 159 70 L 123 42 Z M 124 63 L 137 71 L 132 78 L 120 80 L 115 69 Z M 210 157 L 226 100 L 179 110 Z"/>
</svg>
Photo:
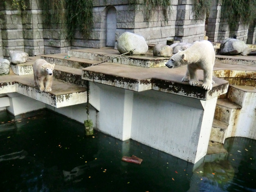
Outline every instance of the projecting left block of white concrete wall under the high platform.
<svg viewBox="0 0 256 192">
<path fill-rule="evenodd" d="M 131 138 L 133 91 L 97 84 L 100 87 L 98 130 L 121 140 Z"/>
</svg>

